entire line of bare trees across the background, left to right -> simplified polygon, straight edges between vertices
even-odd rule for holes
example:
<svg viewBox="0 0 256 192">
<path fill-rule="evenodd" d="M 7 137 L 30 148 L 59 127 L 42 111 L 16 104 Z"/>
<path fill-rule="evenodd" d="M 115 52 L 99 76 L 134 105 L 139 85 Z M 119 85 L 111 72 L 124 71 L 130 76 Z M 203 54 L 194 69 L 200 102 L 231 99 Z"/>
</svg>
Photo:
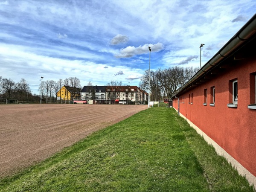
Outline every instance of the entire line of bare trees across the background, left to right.
<svg viewBox="0 0 256 192">
<path fill-rule="evenodd" d="M 199 67 L 169 67 L 167 69 L 157 69 L 150 71 L 150 100 L 163 100 L 171 98 L 172 95 L 186 83 L 192 76 L 199 70 Z M 139 87 L 148 92 L 148 77 L 149 70 L 145 70 L 143 77 L 140 79 Z M 38 102 L 41 99 L 44 102 L 49 102 L 50 98 L 57 97 L 58 91 L 63 86 L 77 87 L 82 89 L 80 80 L 77 77 L 69 77 L 66 79 L 54 80 L 41 80 L 38 87 L 40 94 L 32 94 L 30 85 L 25 79 L 20 79 L 15 83 L 12 79 L 2 78 L 0 76 L 0 98 L 17 99 L 20 101 L 29 100 L 31 102 Z M 111 81 L 107 86 L 122 86 L 122 81 Z M 87 86 L 92 86 L 88 82 Z"/>
</svg>

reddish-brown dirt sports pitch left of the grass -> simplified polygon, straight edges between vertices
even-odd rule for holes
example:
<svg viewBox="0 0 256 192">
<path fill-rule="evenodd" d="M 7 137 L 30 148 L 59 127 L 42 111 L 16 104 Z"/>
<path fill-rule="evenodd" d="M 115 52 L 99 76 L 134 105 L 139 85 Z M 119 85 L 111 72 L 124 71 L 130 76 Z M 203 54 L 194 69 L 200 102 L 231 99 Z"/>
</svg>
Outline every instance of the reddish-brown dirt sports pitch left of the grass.
<svg viewBox="0 0 256 192">
<path fill-rule="evenodd" d="M 0 105 L 0 177 L 145 110 L 146 105 Z"/>
</svg>

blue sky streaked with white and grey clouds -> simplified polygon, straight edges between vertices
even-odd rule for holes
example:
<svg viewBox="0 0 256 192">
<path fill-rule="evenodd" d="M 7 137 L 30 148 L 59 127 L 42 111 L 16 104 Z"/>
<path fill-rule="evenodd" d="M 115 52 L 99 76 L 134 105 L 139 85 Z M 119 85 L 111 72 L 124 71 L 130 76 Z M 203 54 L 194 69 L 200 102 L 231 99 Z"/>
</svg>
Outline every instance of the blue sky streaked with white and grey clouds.
<svg viewBox="0 0 256 192">
<path fill-rule="evenodd" d="M 0 0 L 0 76 L 139 85 L 151 70 L 202 66 L 255 14 L 255 0 Z"/>
</svg>

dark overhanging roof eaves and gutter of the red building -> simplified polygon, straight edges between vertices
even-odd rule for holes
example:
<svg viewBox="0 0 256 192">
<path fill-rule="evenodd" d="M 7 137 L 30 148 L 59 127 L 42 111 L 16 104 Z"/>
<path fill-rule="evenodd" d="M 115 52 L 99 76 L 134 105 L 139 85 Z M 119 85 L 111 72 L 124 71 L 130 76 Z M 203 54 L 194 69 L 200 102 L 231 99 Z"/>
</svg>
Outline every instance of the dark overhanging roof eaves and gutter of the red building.
<svg viewBox="0 0 256 192">
<path fill-rule="evenodd" d="M 256 14 L 189 81 L 180 87 L 172 98 L 204 81 L 209 81 L 216 74 L 224 73 L 225 69 L 236 64 L 236 60 L 255 55 L 255 44 Z"/>
</svg>

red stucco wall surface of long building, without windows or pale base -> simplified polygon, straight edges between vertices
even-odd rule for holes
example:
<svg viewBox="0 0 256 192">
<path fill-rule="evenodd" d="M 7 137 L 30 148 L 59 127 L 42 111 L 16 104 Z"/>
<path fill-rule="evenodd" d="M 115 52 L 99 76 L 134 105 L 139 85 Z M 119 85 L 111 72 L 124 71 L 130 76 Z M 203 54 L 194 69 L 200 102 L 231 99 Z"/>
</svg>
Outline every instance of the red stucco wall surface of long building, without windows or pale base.
<svg viewBox="0 0 256 192">
<path fill-rule="evenodd" d="M 248 109 L 250 73 L 256 72 L 256 58 L 234 61 L 224 72 L 179 96 L 180 113 L 256 176 L 256 110 Z M 238 80 L 238 106 L 229 108 L 229 81 Z M 215 86 L 215 106 L 210 106 L 210 87 Z M 207 89 L 207 105 L 204 103 Z M 250 91 L 251 89 L 251 91 Z M 193 104 L 189 104 L 193 93 Z M 254 92 L 255 93 L 255 92 Z M 177 98 L 173 107 L 178 110 Z"/>
</svg>

